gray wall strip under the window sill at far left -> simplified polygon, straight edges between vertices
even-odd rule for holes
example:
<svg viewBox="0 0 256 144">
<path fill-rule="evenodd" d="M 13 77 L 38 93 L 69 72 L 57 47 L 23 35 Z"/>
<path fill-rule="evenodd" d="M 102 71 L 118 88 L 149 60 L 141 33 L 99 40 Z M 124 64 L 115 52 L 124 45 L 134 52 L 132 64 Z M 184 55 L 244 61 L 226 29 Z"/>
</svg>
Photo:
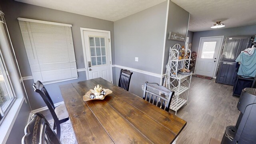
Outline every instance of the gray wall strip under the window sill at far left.
<svg viewBox="0 0 256 144">
<path fill-rule="evenodd" d="M 14 122 L 10 135 L 6 144 L 20 144 L 24 136 L 24 128 L 28 122 L 28 115 L 30 113 L 29 105 L 23 102 L 20 112 Z"/>
</svg>

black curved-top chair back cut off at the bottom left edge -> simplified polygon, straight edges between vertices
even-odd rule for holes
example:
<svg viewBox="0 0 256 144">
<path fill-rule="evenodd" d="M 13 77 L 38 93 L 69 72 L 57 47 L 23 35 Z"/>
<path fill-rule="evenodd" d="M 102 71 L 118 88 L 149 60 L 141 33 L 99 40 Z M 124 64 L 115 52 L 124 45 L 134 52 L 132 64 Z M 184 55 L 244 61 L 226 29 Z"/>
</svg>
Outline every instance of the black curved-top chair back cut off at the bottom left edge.
<svg viewBox="0 0 256 144">
<path fill-rule="evenodd" d="M 42 114 L 35 113 L 26 125 L 22 144 L 60 144 L 60 140 Z"/>
</svg>

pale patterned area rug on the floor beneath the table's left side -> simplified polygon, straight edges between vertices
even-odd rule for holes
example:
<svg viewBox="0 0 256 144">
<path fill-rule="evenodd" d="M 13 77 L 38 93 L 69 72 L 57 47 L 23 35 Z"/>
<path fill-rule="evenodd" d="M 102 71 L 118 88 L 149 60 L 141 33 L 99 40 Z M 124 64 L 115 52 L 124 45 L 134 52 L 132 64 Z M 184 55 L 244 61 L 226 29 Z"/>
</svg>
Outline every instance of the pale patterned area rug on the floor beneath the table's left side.
<svg viewBox="0 0 256 144">
<path fill-rule="evenodd" d="M 49 124 L 53 128 L 54 121 L 50 120 Z M 54 130 L 56 132 L 56 130 Z M 78 144 L 70 120 L 60 124 L 60 142 L 62 144 Z"/>
</svg>

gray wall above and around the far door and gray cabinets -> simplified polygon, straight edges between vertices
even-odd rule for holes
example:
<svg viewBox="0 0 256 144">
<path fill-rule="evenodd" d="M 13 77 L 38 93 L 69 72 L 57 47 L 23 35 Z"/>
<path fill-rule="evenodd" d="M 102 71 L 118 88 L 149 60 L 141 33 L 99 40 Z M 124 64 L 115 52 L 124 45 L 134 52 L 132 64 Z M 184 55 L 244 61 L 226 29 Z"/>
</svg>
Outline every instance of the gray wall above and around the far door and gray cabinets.
<svg viewBox="0 0 256 144">
<path fill-rule="evenodd" d="M 199 42 L 201 37 L 224 36 L 224 40 L 225 40 L 226 37 L 230 37 L 230 36 L 253 36 L 255 34 L 256 34 L 256 25 L 194 32 L 191 50 L 192 52 L 196 52 L 196 53 L 198 52 L 198 47 L 199 47 Z M 219 64 L 219 61 L 218 61 L 218 64 Z M 194 68 L 195 67 L 191 69 L 193 72 L 194 72 Z"/>
</svg>

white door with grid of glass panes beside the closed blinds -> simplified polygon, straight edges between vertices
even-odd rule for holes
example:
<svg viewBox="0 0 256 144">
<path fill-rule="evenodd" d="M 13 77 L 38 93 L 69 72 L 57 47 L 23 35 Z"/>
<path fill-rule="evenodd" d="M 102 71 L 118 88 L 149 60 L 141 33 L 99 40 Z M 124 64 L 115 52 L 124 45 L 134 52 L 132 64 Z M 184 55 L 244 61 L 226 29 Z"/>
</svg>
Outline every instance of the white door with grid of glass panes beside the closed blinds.
<svg viewBox="0 0 256 144">
<path fill-rule="evenodd" d="M 88 79 L 101 77 L 112 82 L 110 33 L 83 30 L 83 34 Z"/>
</svg>

